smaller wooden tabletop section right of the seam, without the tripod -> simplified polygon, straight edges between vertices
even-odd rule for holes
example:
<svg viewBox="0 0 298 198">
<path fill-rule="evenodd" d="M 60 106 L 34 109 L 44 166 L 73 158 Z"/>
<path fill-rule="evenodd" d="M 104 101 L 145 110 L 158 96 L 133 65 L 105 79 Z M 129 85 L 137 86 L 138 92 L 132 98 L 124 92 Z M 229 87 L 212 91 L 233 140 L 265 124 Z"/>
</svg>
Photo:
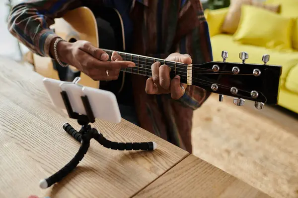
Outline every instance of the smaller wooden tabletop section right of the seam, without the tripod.
<svg viewBox="0 0 298 198">
<path fill-rule="evenodd" d="M 134 198 L 270 197 L 191 154 Z"/>
</svg>

